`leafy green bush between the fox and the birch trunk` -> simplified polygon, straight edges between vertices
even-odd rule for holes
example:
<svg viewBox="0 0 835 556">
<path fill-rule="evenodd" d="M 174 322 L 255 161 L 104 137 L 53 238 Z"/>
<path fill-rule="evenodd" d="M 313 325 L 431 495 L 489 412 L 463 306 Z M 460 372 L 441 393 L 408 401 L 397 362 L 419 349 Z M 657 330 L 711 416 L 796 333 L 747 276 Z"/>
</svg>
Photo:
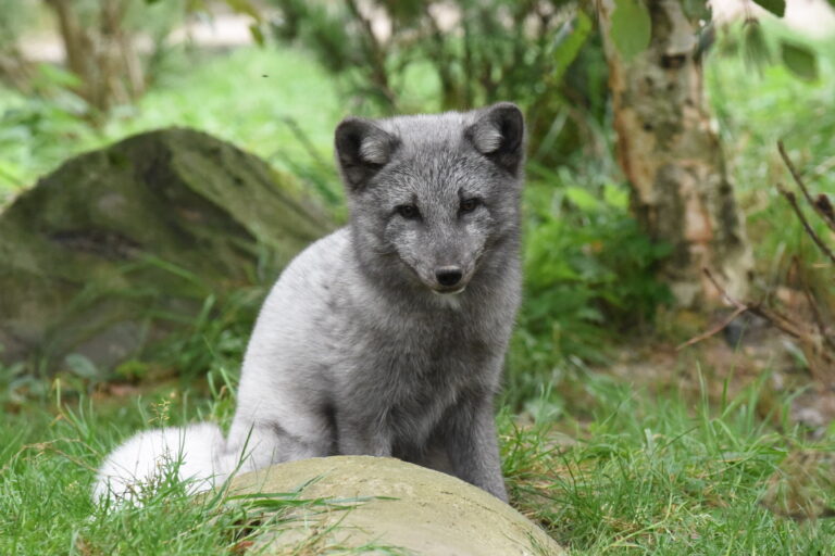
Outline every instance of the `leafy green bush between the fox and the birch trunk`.
<svg viewBox="0 0 835 556">
<path fill-rule="evenodd" d="M 602 176 L 584 185 L 565 168 L 532 169 L 524 301 L 509 356 L 514 403 L 559 382 L 566 367 L 603 363 L 605 343 L 645 329 L 656 308 L 672 301 L 653 277 L 670 248 L 638 229 L 625 186 Z"/>
</svg>

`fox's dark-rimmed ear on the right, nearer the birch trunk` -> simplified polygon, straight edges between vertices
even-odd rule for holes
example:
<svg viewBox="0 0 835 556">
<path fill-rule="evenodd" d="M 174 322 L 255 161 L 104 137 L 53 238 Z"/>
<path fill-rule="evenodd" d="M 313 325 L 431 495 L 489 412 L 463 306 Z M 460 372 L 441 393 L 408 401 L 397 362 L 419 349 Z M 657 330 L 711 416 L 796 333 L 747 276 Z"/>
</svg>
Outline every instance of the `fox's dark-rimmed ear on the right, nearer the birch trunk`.
<svg viewBox="0 0 835 556">
<path fill-rule="evenodd" d="M 465 131 L 475 149 L 511 174 L 525 159 L 525 118 L 512 102 L 499 102 L 481 111 Z"/>
</svg>

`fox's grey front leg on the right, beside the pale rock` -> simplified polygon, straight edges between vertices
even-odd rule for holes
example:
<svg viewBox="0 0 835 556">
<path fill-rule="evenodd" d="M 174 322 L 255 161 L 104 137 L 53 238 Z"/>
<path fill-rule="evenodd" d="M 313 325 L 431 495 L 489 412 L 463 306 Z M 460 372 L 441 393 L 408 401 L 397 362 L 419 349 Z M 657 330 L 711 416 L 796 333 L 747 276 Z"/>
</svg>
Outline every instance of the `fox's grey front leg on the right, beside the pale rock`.
<svg viewBox="0 0 835 556">
<path fill-rule="evenodd" d="M 464 400 L 450 412 L 444 444 L 458 478 L 508 501 L 491 394 Z"/>
</svg>

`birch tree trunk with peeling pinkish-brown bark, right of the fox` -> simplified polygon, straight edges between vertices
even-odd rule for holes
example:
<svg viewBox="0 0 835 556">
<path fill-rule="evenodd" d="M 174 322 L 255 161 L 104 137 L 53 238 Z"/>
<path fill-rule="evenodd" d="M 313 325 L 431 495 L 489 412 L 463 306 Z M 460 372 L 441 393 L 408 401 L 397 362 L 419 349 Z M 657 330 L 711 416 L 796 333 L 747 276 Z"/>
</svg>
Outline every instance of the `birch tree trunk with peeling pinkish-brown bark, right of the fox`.
<svg viewBox="0 0 835 556">
<path fill-rule="evenodd" d="M 683 307 L 715 305 L 727 292 L 745 298 L 752 267 L 745 223 L 705 99 L 697 27 L 681 0 L 648 0 L 649 48 L 625 60 L 609 29 L 614 0 L 600 0 L 618 157 L 632 184 L 632 207 L 644 229 L 672 245 L 661 276 Z"/>
</svg>

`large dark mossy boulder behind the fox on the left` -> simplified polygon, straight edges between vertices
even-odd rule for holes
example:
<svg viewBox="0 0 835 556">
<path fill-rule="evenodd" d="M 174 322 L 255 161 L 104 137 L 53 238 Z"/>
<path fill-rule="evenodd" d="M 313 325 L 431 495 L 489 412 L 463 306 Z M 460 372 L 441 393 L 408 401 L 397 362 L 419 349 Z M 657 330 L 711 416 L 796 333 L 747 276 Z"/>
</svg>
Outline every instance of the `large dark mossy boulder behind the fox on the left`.
<svg viewBox="0 0 835 556">
<path fill-rule="evenodd" d="M 0 359 L 135 357 L 208 295 L 269 283 L 331 228 L 296 181 L 199 131 L 83 154 L 0 214 Z"/>
</svg>

